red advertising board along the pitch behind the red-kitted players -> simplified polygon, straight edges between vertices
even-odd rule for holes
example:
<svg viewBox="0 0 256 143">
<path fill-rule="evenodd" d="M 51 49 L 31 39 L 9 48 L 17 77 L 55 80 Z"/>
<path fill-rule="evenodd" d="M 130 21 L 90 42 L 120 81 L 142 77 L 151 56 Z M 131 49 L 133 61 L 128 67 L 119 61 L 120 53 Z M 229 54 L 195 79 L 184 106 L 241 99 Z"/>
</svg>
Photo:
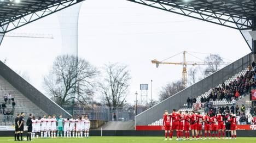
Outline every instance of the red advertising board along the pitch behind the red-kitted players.
<svg viewBox="0 0 256 143">
<path fill-rule="evenodd" d="M 256 130 L 256 125 L 237 125 L 237 130 Z M 162 126 L 136 126 L 136 130 L 164 130 Z"/>
</svg>

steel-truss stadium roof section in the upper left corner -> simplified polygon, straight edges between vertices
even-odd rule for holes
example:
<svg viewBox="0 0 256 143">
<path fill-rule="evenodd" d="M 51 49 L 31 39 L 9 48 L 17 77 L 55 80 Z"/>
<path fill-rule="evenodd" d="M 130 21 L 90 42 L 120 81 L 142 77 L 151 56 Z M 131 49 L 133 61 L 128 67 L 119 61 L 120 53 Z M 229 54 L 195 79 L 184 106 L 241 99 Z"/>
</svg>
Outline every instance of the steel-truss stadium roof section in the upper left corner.
<svg viewBox="0 0 256 143">
<path fill-rule="evenodd" d="M 0 33 L 24 26 L 84 0 L 0 0 Z"/>
</svg>

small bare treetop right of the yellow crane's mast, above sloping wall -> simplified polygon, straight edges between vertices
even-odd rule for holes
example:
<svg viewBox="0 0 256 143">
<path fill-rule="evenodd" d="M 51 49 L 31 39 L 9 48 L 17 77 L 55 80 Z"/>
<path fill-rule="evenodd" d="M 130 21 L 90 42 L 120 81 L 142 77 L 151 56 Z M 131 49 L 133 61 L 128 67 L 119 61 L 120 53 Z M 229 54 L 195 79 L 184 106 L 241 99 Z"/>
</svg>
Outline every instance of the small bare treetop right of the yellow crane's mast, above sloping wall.
<svg viewBox="0 0 256 143">
<path fill-rule="evenodd" d="M 205 62 L 209 63 L 204 72 L 205 76 L 208 76 L 222 67 L 220 63 L 223 63 L 223 58 L 219 54 L 210 54 L 205 58 Z"/>
</svg>

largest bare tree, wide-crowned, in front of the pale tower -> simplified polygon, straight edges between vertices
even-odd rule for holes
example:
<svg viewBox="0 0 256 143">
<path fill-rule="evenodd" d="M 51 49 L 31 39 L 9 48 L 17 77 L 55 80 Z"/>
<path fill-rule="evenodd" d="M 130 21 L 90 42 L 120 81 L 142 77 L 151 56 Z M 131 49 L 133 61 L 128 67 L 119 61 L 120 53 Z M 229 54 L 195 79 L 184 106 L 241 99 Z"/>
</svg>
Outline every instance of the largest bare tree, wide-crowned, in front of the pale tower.
<svg viewBox="0 0 256 143">
<path fill-rule="evenodd" d="M 44 77 L 45 91 L 63 107 L 72 102 L 86 105 L 94 93 L 96 67 L 73 55 L 61 55 Z"/>
</svg>

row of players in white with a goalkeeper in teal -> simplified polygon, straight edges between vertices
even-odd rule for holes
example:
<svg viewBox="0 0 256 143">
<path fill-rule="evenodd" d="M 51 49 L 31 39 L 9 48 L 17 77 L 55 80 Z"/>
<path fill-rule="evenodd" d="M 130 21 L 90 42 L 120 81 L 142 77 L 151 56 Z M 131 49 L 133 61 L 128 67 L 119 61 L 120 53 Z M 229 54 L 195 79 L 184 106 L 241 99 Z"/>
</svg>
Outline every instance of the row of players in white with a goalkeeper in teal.
<svg viewBox="0 0 256 143">
<path fill-rule="evenodd" d="M 42 119 L 36 119 L 34 116 L 32 117 L 32 138 L 38 138 L 40 133 L 40 138 L 56 138 L 62 135 L 64 138 L 71 138 L 73 136 L 76 138 L 82 138 L 83 132 L 84 137 L 89 138 L 89 130 L 90 130 L 90 120 L 88 119 L 88 115 L 77 117 L 71 117 L 71 119 L 63 119 L 60 115 L 58 119 L 56 119 L 56 115 L 51 117 L 48 115 L 43 116 Z"/>
</svg>

